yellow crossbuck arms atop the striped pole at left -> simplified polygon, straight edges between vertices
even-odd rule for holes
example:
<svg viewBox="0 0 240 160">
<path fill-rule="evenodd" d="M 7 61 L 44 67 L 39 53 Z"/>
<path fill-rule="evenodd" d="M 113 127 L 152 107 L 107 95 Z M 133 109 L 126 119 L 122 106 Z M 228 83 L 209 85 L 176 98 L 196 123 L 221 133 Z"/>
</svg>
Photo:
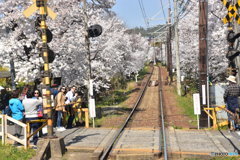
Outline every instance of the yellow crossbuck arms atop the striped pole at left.
<svg viewBox="0 0 240 160">
<path fill-rule="evenodd" d="M 25 17 L 30 17 L 34 12 L 36 12 L 37 10 L 39 10 L 40 7 L 37 7 L 37 1 L 39 0 L 32 0 L 33 4 L 28 7 L 26 10 L 23 11 L 23 15 Z M 57 17 L 57 14 L 54 13 L 49 7 L 47 7 L 47 0 L 40 0 L 44 2 L 44 8 L 45 8 L 45 12 L 47 15 L 49 15 L 52 19 L 55 19 Z"/>
</svg>

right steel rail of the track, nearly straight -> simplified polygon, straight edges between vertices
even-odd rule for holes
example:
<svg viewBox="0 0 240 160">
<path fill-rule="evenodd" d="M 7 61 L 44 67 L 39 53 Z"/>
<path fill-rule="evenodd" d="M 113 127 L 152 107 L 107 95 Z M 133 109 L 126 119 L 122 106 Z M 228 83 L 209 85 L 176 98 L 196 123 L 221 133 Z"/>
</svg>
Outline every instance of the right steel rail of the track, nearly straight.
<svg viewBox="0 0 240 160">
<path fill-rule="evenodd" d="M 160 103 L 160 112 L 161 112 L 161 121 L 162 121 L 162 140 L 163 140 L 163 154 L 164 154 L 164 160 L 168 159 L 167 154 L 167 139 L 166 139 L 166 132 L 165 132 L 165 124 L 164 124 L 164 110 L 163 110 L 163 91 L 162 91 L 162 77 L 161 77 L 161 67 L 159 67 L 159 103 Z M 161 132 L 160 131 L 160 132 Z M 161 139 L 160 139 L 161 144 Z M 161 149 L 161 148 L 160 148 Z"/>
</svg>

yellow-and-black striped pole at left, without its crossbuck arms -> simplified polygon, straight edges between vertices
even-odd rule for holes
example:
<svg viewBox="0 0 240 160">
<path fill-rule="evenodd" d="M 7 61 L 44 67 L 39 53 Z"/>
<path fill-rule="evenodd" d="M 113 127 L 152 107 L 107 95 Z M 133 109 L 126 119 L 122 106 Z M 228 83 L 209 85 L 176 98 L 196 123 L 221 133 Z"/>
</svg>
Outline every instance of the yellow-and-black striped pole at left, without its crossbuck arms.
<svg viewBox="0 0 240 160">
<path fill-rule="evenodd" d="M 47 5 L 46 0 L 38 1 L 39 10 L 40 10 L 40 28 L 42 32 L 42 57 L 44 61 L 44 78 L 43 84 L 44 88 L 42 89 L 43 95 L 43 109 L 44 114 L 47 115 L 47 129 L 48 137 L 53 136 L 53 118 L 52 118 L 52 108 L 51 108 L 51 92 L 50 92 L 50 71 L 49 71 L 49 62 L 48 62 L 48 46 L 47 46 L 47 25 L 46 25 L 46 16 L 47 16 Z"/>
</svg>

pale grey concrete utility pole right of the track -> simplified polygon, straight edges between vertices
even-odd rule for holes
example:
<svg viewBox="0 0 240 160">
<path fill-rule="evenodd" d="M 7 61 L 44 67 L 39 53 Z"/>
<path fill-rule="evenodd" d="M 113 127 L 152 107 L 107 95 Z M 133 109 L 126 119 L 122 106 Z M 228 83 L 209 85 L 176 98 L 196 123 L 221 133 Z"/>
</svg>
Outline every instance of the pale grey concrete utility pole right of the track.
<svg viewBox="0 0 240 160">
<path fill-rule="evenodd" d="M 180 57 L 179 57 L 179 34 L 178 34 L 178 1 L 174 0 L 174 23 L 175 23 L 175 54 L 176 54 L 176 70 L 177 70 L 177 93 L 181 96 L 181 73 L 180 73 Z"/>
</svg>

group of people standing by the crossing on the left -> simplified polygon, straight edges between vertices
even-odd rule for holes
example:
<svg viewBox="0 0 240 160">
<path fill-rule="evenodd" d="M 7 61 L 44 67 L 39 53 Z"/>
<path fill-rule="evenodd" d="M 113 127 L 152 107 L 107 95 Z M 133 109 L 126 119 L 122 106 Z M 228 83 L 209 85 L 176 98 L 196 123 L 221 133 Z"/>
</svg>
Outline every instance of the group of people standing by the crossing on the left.
<svg viewBox="0 0 240 160">
<path fill-rule="evenodd" d="M 56 131 L 64 131 L 66 128 L 72 128 L 75 118 L 73 107 L 76 106 L 76 100 L 78 100 L 78 105 L 81 101 L 79 94 L 76 92 L 76 87 L 72 86 L 68 91 L 64 86 L 60 88 L 54 86 L 51 88 L 51 93 L 54 97 L 53 122 Z M 18 90 L 13 91 L 11 94 L 6 92 L 5 89 L 1 90 L 0 109 L 2 110 L 2 114 L 8 114 L 12 118 L 24 123 L 44 118 L 43 100 L 41 92 L 38 89 L 28 89 L 24 96 L 20 95 Z M 20 137 L 22 128 L 17 124 L 14 125 L 15 136 Z M 41 125 L 42 123 L 30 123 L 30 128 L 32 132 L 35 132 Z M 38 134 L 42 136 L 41 130 Z M 34 145 L 37 144 L 38 134 L 33 135 Z"/>
</svg>

